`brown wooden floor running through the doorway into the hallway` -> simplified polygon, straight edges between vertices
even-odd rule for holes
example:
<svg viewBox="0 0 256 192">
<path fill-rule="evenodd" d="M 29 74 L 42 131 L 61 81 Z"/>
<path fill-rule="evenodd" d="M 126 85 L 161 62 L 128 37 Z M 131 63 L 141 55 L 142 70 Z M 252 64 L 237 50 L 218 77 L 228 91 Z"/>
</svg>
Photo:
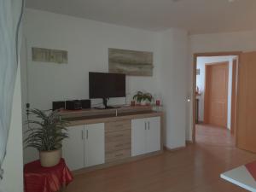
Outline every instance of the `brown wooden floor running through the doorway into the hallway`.
<svg viewBox="0 0 256 192">
<path fill-rule="evenodd" d="M 221 172 L 256 160 L 223 128 L 197 125 L 195 144 L 176 152 L 76 176 L 66 192 L 237 192 Z"/>
</svg>

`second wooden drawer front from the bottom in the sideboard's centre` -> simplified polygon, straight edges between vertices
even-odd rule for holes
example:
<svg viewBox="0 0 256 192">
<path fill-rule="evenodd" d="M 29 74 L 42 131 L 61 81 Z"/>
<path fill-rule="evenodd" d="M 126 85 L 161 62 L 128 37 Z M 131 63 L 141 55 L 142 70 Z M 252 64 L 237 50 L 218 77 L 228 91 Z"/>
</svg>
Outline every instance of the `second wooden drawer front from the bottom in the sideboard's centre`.
<svg viewBox="0 0 256 192">
<path fill-rule="evenodd" d="M 117 140 L 115 142 L 107 142 L 105 143 L 105 151 L 114 152 L 122 149 L 131 149 L 131 138 L 125 140 Z"/>
</svg>

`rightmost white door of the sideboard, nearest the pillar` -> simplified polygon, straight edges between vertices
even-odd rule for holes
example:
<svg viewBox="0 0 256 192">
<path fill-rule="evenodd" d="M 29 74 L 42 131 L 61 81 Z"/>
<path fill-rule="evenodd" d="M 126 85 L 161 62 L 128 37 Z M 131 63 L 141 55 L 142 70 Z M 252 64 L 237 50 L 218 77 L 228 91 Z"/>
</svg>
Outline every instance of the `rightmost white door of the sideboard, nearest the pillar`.
<svg viewBox="0 0 256 192">
<path fill-rule="evenodd" d="M 160 117 L 147 119 L 146 153 L 160 150 Z"/>
</svg>

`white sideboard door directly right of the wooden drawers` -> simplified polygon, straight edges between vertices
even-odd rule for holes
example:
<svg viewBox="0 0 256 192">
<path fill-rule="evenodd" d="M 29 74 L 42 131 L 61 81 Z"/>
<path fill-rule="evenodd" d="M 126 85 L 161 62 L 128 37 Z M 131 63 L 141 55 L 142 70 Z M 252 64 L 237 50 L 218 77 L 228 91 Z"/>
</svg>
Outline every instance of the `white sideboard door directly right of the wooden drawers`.
<svg viewBox="0 0 256 192">
<path fill-rule="evenodd" d="M 145 154 L 146 129 L 147 124 L 145 119 L 131 120 L 131 156 Z"/>
</svg>

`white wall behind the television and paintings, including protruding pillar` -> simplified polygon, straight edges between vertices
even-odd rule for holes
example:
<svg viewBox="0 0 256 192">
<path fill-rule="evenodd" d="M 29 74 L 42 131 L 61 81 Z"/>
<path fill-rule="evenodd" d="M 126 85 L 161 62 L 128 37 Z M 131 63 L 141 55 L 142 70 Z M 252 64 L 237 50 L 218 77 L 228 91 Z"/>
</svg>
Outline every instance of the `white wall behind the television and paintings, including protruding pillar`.
<svg viewBox="0 0 256 192">
<path fill-rule="evenodd" d="M 23 90 L 27 94 L 23 106 L 27 101 L 32 108 L 40 109 L 51 108 L 52 101 L 88 98 L 88 72 L 108 72 L 108 48 L 154 52 L 153 77 L 127 77 L 126 93 L 132 95 L 136 90 L 147 90 L 153 95 L 160 95 L 168 117 L 166 145 L 168 148 L 184 145 L 186 32 L 147 32 L 26 9 L 24 36 L 27 56 L 22 79 L 27 82 L 24 83 L 27 90 Z M 68 64 L 33 62 L 32 47 L 66 49 Z M 111 102 L 125 103 L 125 99 L 113 99 Z M 38 157 L 38 152 L 32 149 L 26 149 L 24 153 L 25 162 Z"/>
</svg>

